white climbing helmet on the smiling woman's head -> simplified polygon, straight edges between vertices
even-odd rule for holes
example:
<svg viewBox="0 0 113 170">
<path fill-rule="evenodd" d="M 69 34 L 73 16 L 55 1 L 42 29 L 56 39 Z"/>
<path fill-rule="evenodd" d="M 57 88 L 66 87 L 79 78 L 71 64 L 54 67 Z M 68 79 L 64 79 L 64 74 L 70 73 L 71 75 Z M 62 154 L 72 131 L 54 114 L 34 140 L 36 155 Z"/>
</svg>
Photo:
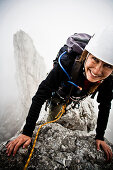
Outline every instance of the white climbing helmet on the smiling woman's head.
<svg viewBox="0 0 113 170">
<path fill-rule="evenodd" d="M 113 65 L 113 27 L 96 32 L 85 49 L 98 59 Z"/>
</svg>

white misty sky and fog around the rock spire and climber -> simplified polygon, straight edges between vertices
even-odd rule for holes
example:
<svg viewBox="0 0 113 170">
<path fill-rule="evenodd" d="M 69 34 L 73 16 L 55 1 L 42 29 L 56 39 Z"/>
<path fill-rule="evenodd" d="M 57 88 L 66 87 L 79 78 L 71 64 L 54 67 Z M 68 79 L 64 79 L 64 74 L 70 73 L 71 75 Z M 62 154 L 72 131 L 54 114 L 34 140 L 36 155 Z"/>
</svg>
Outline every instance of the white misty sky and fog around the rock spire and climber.
<svg viewBox="0 0 113 170">
<path fill-rule="evenodd" d="M 111 24 L 112 0 L 0 0 L 0 124 L 2 117 L 7 122 L 10 116 L 4 112 L 5 106 L 18 95 L 13 47 L 13 35 L 17 31 L 21 29 L 32 38 L 44 58 L 47 73 L 70 35 L 75 32 L 93 35 L 99 28 Z M 96 102 L 95 108 L 97 112 Z M 113 108 L 106 131 L 106 137 L 113 143 L 112 120 Z M 12 126 L 12 122 L 13 116 L 10 122 L 13 131 L 16 125 Z"/>
</svg>

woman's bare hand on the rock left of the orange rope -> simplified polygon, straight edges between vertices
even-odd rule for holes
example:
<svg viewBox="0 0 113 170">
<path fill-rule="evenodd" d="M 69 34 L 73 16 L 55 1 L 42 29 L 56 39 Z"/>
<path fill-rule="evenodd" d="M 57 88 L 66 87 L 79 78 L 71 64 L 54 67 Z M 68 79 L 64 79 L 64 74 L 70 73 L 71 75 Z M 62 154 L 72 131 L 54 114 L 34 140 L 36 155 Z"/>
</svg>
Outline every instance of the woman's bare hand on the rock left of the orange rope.
<svg viewBox="0 0 113 170">
<path fill-rule="evenodd" d="M 30 143 L 31 143 L 31 137 L 21 134 L 16 139 L 10 141 L 6 145 L 7 148 L 6 153 L 8 156 L 10 156 L 13 151 L 13 156 L 15 156 L 17 150 L 22 144 L 23 144 L 23 148 L 27 148 Z"/>
</svg>

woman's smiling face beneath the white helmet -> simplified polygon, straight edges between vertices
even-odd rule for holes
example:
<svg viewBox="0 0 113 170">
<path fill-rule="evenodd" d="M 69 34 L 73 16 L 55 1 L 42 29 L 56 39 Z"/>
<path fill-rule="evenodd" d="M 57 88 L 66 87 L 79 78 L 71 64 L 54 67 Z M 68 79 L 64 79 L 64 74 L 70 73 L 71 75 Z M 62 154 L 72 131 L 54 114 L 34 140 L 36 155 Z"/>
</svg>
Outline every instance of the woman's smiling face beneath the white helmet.
<svg viewBox="0 0 113 170">
<path fill-rule="evenodd" d="M 99 60 L 92 54 L 86 58 L 85 74 L 90 82 L 97 82 L 107 78 L 113 71 L 113 66 Z"/>
</svg>

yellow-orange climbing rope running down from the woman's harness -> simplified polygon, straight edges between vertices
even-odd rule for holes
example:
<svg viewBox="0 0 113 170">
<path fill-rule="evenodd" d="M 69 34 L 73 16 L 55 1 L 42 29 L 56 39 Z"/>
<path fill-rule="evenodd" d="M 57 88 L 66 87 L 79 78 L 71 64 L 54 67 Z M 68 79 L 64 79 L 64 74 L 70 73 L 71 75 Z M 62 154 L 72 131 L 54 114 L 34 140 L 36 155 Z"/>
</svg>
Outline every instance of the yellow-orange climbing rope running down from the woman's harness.
<svg viewBox="0 0 113 170">
<path fill-rule="evenodd" d="M 30 154 L 29 154 L 29 158 L 28 158 L 28 160 L 27 160 L 27 162 L 26 162 L 26 164 L 25 164 L 25 166 L 24 166 L 24 170 L 27 169 L 27 167 L 28 167 L 28 165 L 29 165 L 29 162 L 30 162 L 30 160 L 31 160 L 31 157 L 32 157 L 32 154 L 33 154 L 35 145 L 36 145 L 36 140 L 37 140 L 37 137 L 38 137 L 38 135 L 39 135 L 40 129 L 41 129 L 44 125 L 49 124 L 49 123 L 56 122 L 58 119 L 60 119 L 61 116 L 63 115 L 63 113 L 65 113 L 65 108 L 66 108 L 66 104 L 64 104 L 64 105 L 62 106 L 62 109 L 61 109 L 61 111 L 59 111 L 59 113 L 58 113 L 57 116 L 55 117 L 55 118 L 56 118 L 55 120 L 52 120 L 52 121 L 50 121 L 50 122 L 46 122 L 46 123 L 42 124 L 42 125 L 39 127 L 39 129 L 38 129 L 38 131 L 37 131 L 37 133 L 36 133 L 36 136 L 35 136 L 35 140 L 34 140 L 34 143 L 33 143 L 33 147 L 32 147 L 31 152 L 30 152 Z"/>
</svg>

